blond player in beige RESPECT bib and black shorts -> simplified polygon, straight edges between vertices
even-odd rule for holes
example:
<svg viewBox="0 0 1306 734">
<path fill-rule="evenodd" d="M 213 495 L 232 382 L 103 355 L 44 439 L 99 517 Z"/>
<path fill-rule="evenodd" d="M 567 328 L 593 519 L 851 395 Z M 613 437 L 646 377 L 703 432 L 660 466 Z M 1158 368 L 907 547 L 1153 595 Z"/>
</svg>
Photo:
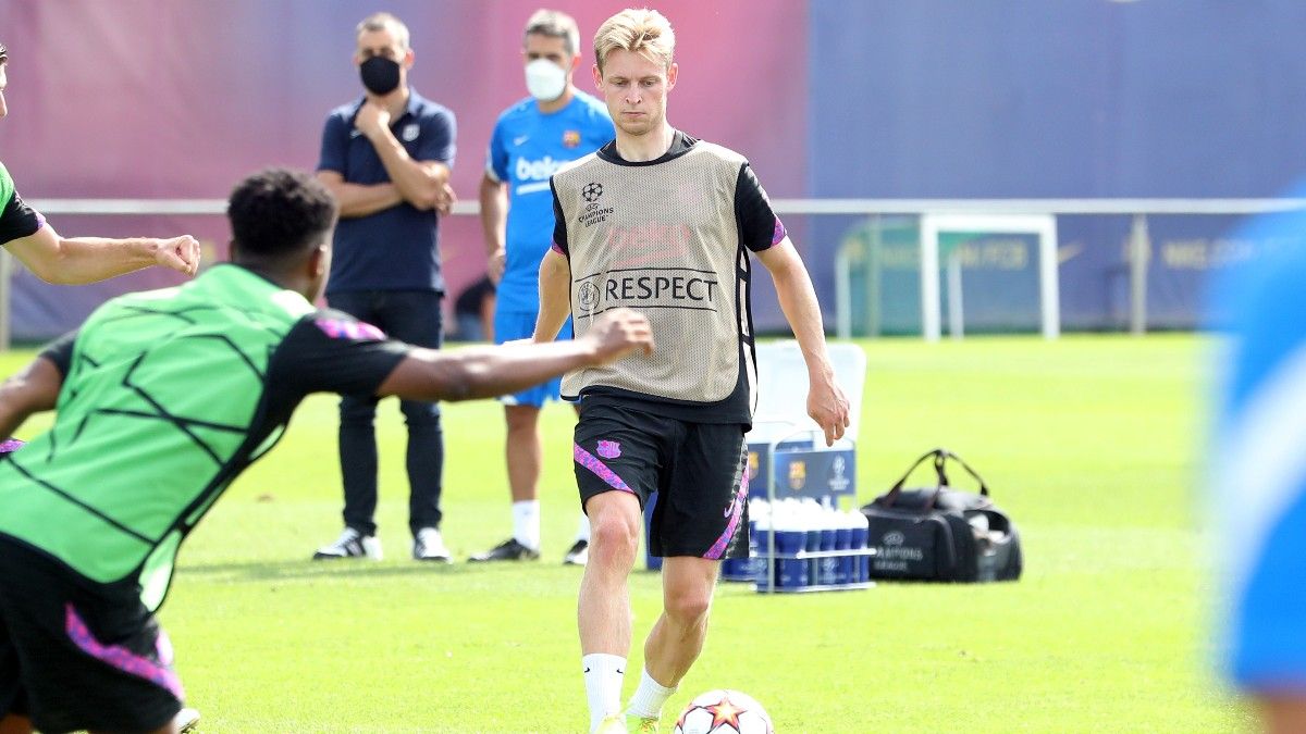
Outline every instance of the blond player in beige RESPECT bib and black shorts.
<svg viewBox="0 0 1306 734">
<path fill-rule="evenodd" d="M 699 657 L 721 559 L 747 542 L 747 448 L 755 364 L 750 255 L 771 272 L 808 371 L 807 411 L 827 443 L 848 426 L 807 270 L 748 162 L 673 128 L 675 37 L 656 10 L 623 10 L 594 37 L 594 81 L 616 140 L 554 174 L 552 249 L 539 268 L 535 341 L 571 311 L 588 334 L 613 308 L 653 324 L 658 351 L 563 379 L 580 400 L 576 479 L 593 528 L 579 626 L 590 726 L 656 731 L 662 704 Z M 663 556 L 663 610 L 620 709 L 631 644 L 627 576 L 658 492 L 650 549 Z"/>
</svg>

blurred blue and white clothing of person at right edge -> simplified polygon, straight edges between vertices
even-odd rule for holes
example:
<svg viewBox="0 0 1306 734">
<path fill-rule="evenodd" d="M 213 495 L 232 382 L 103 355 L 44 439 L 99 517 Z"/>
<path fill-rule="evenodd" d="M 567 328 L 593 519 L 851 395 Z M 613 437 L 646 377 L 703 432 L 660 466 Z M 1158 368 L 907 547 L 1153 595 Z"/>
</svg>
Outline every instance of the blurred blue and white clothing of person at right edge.
<svg viewBox="0 0 1306 734">
<path fill-rule="evenodd" d="M 1232 337 L 1209 452 L 1225 662 L 1245 688 L 1306 692 L 1306 212 L 1232 242 L 1267 252 L 1216 289 Z"/>
</svg>

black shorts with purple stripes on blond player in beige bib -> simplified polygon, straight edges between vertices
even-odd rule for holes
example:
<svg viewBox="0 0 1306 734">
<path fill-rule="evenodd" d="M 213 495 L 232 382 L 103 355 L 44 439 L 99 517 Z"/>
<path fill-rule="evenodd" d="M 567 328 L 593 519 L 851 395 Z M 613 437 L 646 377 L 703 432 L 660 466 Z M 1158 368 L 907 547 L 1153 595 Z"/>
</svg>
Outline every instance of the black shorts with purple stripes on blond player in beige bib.
<svg viewBox="0 0 1306 734">
<path fill-rule="evenodd" d="M 589 498 L 624 491 L 640 507 L 658 494 L 649 529 L 656 556 L 748 556 L 748 455 L 739 423 L 690 423 L 581 401 L 576 485 Z"/>
</svg>

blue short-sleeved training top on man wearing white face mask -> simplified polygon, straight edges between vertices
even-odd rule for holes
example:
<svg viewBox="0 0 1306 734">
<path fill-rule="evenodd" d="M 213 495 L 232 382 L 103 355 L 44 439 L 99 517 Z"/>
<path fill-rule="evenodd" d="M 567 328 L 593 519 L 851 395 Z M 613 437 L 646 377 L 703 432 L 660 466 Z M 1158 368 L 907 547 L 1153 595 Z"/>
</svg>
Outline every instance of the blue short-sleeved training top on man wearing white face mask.
<svg viewBox="0 0 1306 734">
<path fill-rule="evenodd" d="M 607 107 L 579 90 L 556 112 L 541 112 L 528 97 L 499 115 L 490 136 L 486 174 L 508 184 L 508 264 L 499 282 L 500 311 L 539 311 L 539 261 L 554 234 L 549 176 L 614 136 Z"/>
</svg>

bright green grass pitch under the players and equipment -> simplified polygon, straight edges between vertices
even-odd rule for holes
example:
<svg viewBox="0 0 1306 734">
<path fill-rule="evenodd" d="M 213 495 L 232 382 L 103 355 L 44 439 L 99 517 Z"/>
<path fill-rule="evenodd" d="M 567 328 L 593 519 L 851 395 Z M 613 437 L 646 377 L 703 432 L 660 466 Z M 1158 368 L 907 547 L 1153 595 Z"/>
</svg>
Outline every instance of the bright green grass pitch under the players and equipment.
<svg viewBox="0 0 1306 734">
<path fill-rule="evenodd" d="M 861 502 L 948 447 L 1019 524 L 1024 579 L 798 597 L 722 584 L 667 720 L 696 694 L 731 687 L 785 734 L 1249 729 L 1212 673 L 1213 584 L 1196 529 L 1212 346 L 1192 336 L 865 342 Z M 487 568 L 409 560 L 394 401 L 377 427 L 387 560 L 308 560 L 340 530 L 334 409 L 328 396 L 306 402 L 182 551 L 161 619 L 201 730 L 584 731 L 581 572 L 560 564 L 577 519 L 571 411 L 545 411 L 543 559 Z M 509 534 L 502 409 L 445 406 L 444 432 L 444 530 L 462 559 Z M 633 671 L 658 577 L 636 572 L 631 593 Z"/>
</svg>

